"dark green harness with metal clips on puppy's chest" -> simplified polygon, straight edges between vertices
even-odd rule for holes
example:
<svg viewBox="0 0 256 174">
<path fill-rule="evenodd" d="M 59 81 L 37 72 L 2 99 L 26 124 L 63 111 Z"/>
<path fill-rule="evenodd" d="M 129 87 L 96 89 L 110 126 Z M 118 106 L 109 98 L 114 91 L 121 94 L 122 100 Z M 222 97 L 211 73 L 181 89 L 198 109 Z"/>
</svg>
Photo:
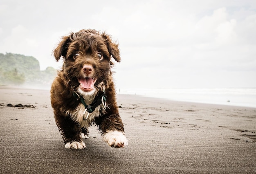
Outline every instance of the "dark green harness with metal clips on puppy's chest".
<svg viewBox="0 0 256 174">
<path fill-rule="evenodd" d="M 88 119 L 90 113 L 92 113 L 100 104 L 103 104 L 104 108 L 107 108 L 106 105 L 106 94 L 104 92 L 99 93 L 94 100 L 92 101 L 91 104 L 87 105 L 85 104 L 85 99 L 79 95 L 75 90 L 73 90 L 73 97 L 79 100 L 83 106 L 85 107 L 85 111 L 83 112 L 83 120 Z M 87 112 L 87 115 L 85 114 Z"/>
</svg>

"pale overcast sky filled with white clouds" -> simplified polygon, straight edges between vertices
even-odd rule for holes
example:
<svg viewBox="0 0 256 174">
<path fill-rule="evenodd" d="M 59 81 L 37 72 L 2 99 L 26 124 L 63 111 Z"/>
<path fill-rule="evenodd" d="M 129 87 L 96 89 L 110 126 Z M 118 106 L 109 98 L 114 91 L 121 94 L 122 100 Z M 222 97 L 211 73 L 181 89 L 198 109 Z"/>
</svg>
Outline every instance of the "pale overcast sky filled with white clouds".
<svg viewBox="0 0 256 174">
<path fill-rule="evenodd" d="M 64 35 L 119 43 L 117 88 L 256 88 L 255 0 L 1 0 L 0 53 L 59 69 Z"/>
</svg>

